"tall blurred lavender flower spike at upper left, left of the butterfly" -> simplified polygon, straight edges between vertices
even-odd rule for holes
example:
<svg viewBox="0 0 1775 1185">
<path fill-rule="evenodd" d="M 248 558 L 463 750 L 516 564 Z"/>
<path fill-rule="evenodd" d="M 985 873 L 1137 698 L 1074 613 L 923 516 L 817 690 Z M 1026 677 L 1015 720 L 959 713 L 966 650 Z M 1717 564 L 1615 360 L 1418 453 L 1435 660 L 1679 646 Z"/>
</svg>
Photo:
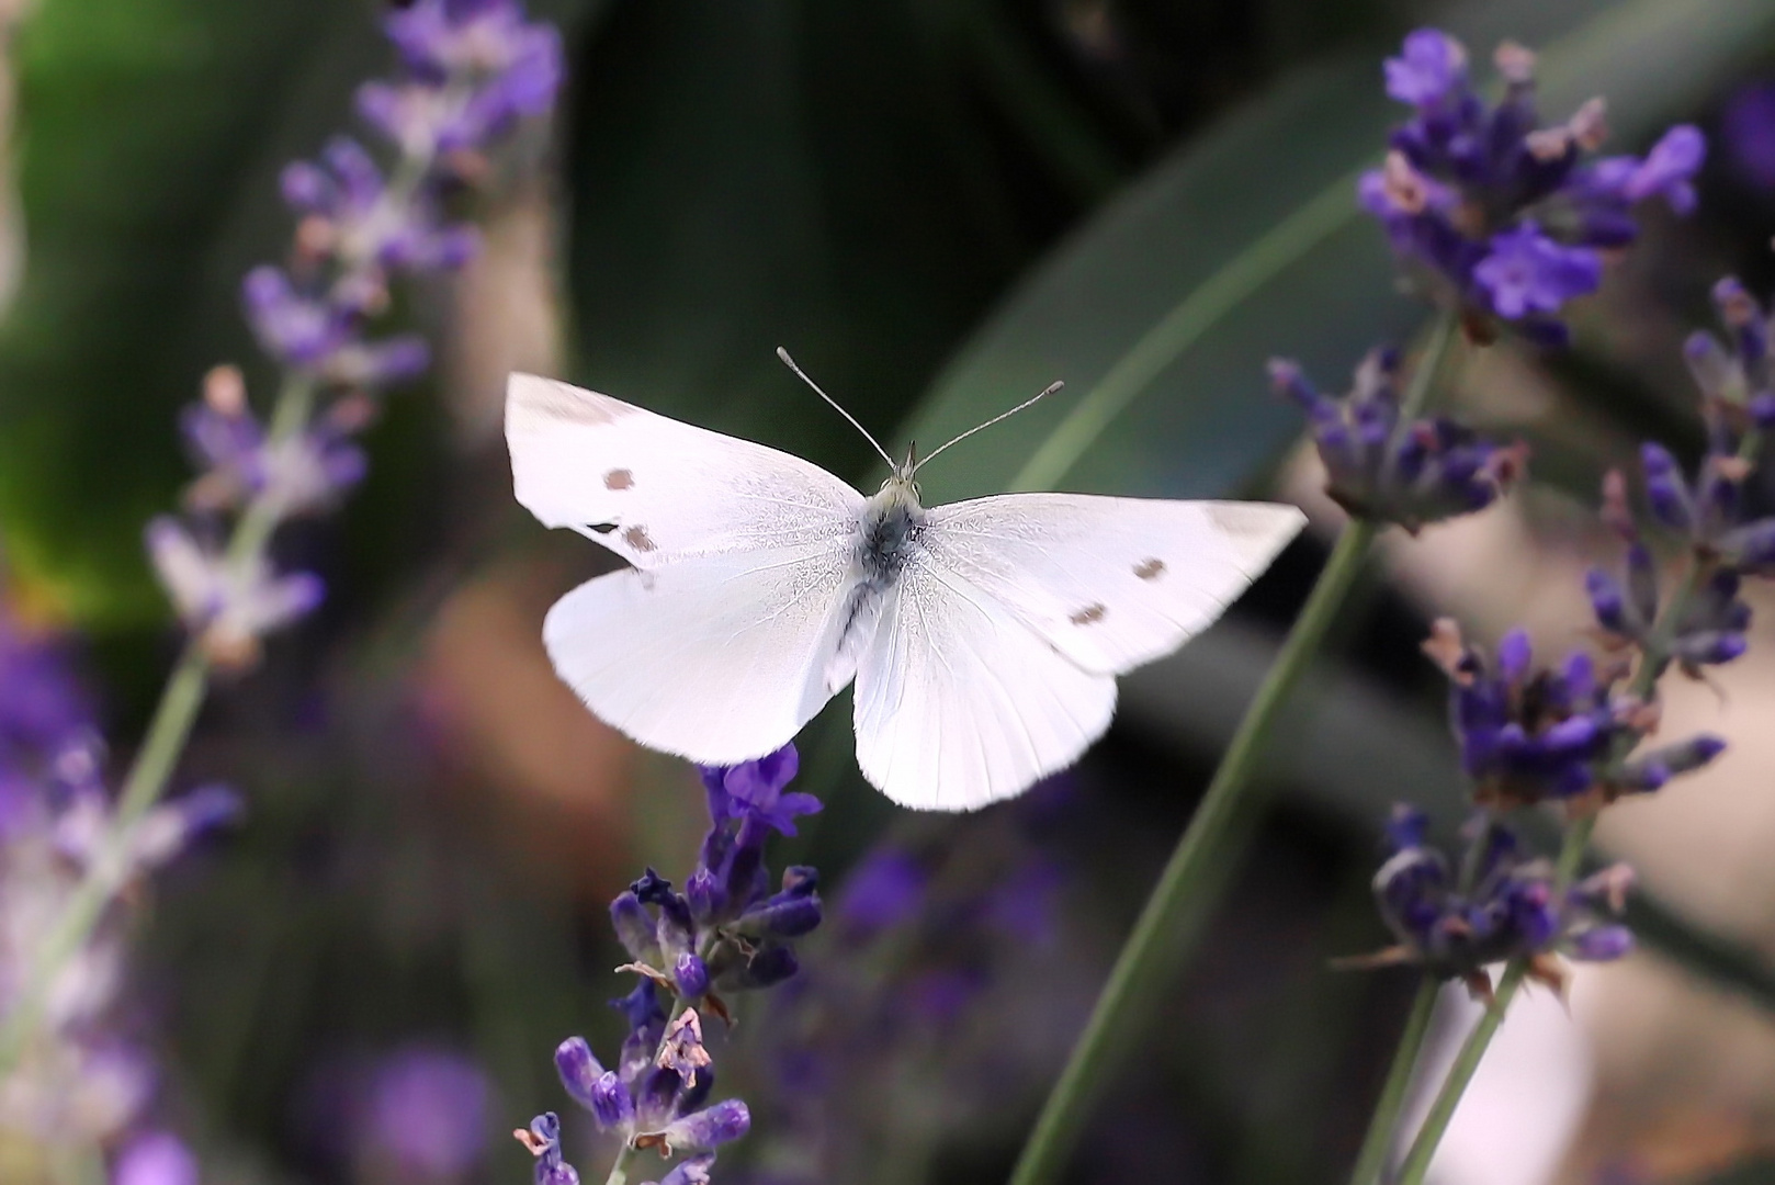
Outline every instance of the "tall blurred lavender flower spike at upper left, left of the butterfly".
<svg viewBox="0 0 1775 1185">
<path fill-rule="evenodd" d="M 323 593 L 309 572 L 277 572 L 264 544 L 291 517 L 330 506 L 364 476 L 353 442 L 387 387 L 430 364 L 419 334 L 371 336 L 390 284 L 460 268 L 472 227 L 449 219 L 451 199 L 490 171 L 488 153 L 524 119 L 545 115 L 561 85 L 552 25 L 529 23 L 515 0 L 415 0 L 385 18 L 401 71 L 359 89 L 362 119 L 394 149 L 385 174 L 369 149 L 339 137 L 320 162 L 284 171 L 298 215 L 284 266 L 243 282 L 247 320 L 284 386 L 270 423 L 222 366 L 185 416 L 201 476 L 186 521 L 156 519 L 147 547 L 202 654 L 224 666 L 254 661 L 259 640 L 312 611 Z M 222 545 L 222 517 L 238 515 Z"/>
</svg>

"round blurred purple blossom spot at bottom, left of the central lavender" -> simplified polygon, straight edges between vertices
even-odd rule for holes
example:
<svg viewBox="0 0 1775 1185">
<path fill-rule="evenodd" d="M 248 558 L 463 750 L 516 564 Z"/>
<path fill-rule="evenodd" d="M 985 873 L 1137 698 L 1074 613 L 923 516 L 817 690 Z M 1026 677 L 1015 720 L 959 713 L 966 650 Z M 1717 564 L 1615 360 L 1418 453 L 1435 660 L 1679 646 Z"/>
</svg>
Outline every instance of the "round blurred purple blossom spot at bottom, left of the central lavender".
<svg viewBox="0 0 1775 1185">
<path fill-rule="evenodd" d="M 406 1176 L 456 1180 L 486 1149 L 488 1094 L 486 1075 L 462 1054 L 401 1050 L 371 1078 L 360 1139 Z"/>
</svg>

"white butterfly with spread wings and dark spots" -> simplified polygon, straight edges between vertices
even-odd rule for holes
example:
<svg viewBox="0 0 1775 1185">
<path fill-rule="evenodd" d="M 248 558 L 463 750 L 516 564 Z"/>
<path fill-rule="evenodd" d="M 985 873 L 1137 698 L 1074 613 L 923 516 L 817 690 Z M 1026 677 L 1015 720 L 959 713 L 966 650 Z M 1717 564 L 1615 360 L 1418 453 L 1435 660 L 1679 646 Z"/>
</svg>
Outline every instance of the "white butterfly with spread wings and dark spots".
<svg viewBox="0 0 1775 1185">
<path fill-rule="evenodd" d="M 1109 727 L 1115 677 L 1207 627 L 1303 522 L 1086 494 L 925 508 L 912 460 L 879 444 L 893 474 L 864 497 L 799 457 L 534 375 L 511 375 L 506 441 L 531 513 L 634 565 L 543 624 L 593 712 L 728 766 L 856 679 L 863 776 L 935 810 L 1077 760 Z"/>
</svg>

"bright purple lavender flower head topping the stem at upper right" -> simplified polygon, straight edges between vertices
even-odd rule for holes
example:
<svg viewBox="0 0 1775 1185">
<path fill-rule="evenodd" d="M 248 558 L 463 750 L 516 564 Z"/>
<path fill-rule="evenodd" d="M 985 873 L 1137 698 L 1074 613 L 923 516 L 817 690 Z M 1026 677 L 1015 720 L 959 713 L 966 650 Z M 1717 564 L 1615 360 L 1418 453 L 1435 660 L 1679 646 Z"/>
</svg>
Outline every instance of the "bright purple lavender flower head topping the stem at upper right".
<svg viewBox="0 0 1775 1185">
<path fill-rule="evenodd" d="M 1393 130 L 1386 165 L 1358 185 L 1361 206 L 1386 227 L 1408 274 L 1463 314 L 1486 341 L 1509 323 L 1532 341 L 1564 345 L 1558 313 L 1596 291 L 1603 249 L 1631 243 L 1633 206 L 1661 197 L 1695 206 L 1706 156 L 1700 131 L 1672 128 L 1644 158 L 1589 160 L 1606 135 L 1601 99 L 1564 124 L 1539 126 L 1534 55 L 1496 53 L 1503 96 L 1473 91 L 1466 50 L 1420 28 L 1384 66 L 1386 92 L 1413 117 Z"/>
</svg>

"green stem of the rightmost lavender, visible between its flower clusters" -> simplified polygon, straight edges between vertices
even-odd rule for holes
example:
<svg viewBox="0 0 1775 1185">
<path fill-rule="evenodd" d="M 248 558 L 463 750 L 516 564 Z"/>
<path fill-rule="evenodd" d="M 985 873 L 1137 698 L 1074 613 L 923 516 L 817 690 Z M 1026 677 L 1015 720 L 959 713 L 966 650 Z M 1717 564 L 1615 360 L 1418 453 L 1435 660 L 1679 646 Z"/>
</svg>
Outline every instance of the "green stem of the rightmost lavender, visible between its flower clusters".
<svg viewBox="0 0 1775 1185">
<path fill-rule="evenodd" d="M 1755 460 L 1761 448 L 1763 433 L 1747 432 L 1738 442 L 1738 457 L 1740 460 Z M 1690 558 L 1683 583 L 1677 585 L 1676 593 L 1658 613 L 1658 622 L 1653 625 L 1645 654 L 1640 659 L 1638 670 L 1633 672 L 1633 682 L 1628 684 L 1629 696 L 1637 700 L 1649 700 L 1653 688 L 1658 684 L 1658 677 L 1665 672 L 1668 663 L 1670 643 L 1676 638 L 1677 622 L 1683 620 L 1683 613 L 1688 609 L 1690 599 L 1700 592 L 1700 586 L 1708 579 L 1708 565 Z M 1613 757 L 1619 760 L 1626 757 L 1626 753 L 1617 752 Z M 1571 826 L 1566 828 L 1566 839 L 1560 844 L 1557 876 L 1553 881 L 1555 894 L 1564 894 L 1573 878 L 1578 876 L 1578 869 L 1583 865 L 1583 856 L 1590 847 L 1590 835 L 1596 831 L 1596 819 L 1598 815 L 1590 814 L 1583 819 L 1574 819 Z M 1431 1110 L 1424 1117 L 1424 1126 L 1411 1142 L 1411 1151 L 1406 1155 L 1406 1162 L 1399 1173 L 1399 1185 L 1422 1185 L 1424 1174 L 1429 1173 L 1431 1158 L 1436 1155 L 1436 1146 L 1448 1130 L 1456 1107 L 1459 1107 L 1461 1096 L 1466 1093 L 1468 1084 L 1473 1080 L 1473 1073 L 1479 1070 L 1480 1059 L 1486 1055 L 1486 1048 L 1491 1045 L 1491 1038 L 1498 1032 L 1498 1025 L 1503 1022 L 1503 1011 L 1511 1006 L 1511 998 L 1516 995 L 1516 990 L 1521 986 L 1526 974 L 1526 959 L 1516 958 L 1511 959 L 1509 966 L 1505 966 L 1503 977 L 1498 981 L 1498 990 L 1493 995 L 1491 1007 L 1486 1009 L 1486 1014 L 1473 1027 L 1473 1032 L 1468 1034 L 1466 1043 L 1461 1046 L 1461 1054 L 1448 1070 L 1448 1077 L 1436 1093 L 1436 1101 L 1431 1103 Z"/>
</svg>

